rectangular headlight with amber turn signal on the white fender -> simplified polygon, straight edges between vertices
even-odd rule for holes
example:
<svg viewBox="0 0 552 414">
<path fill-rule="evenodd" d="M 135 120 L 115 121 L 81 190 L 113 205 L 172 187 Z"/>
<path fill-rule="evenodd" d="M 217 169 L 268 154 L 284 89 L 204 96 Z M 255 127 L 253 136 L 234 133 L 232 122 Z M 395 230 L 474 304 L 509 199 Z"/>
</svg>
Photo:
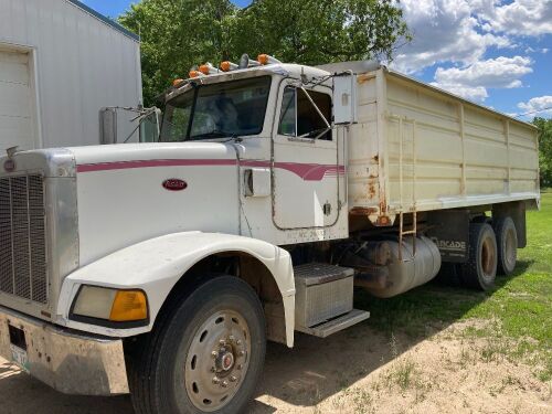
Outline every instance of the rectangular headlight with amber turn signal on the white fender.
<svg viewBox="0 0 552 414">
<path fill-rule="evenodd" d="M 142 290 L 83 286 L 73 304 L 71 317 L 82 321 L 94 318 L 115 323 L 147 322 L 148 300 Z"/>
</svg>

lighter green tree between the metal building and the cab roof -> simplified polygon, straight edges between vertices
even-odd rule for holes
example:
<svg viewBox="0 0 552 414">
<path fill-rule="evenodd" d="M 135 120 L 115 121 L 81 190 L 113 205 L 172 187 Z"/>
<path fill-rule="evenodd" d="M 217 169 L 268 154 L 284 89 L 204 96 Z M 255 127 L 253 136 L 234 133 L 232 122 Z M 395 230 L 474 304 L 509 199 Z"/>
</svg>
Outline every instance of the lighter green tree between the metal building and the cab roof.
<svg viewBox="0 0 552 414">
<path fill-rule="evenodd" d="M 141 38 L 146 105 L 192 65 L 222 59 L 235 11 L 230 0 L 142 0 L 119 18 Z"/>
</svg>

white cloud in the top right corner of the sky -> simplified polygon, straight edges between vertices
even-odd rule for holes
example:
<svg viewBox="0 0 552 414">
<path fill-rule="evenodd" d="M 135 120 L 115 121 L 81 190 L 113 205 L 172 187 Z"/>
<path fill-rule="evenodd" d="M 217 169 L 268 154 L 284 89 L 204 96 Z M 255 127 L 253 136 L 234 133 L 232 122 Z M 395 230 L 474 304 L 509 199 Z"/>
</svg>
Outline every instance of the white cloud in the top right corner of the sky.
<svg viewBox="0 0 552 414">
<path fill-rule="evenodd" d="M 485 31 L 521 36 L 552 33 L 551 0 L 471 0 L 470 4 Z"/>
</svg>

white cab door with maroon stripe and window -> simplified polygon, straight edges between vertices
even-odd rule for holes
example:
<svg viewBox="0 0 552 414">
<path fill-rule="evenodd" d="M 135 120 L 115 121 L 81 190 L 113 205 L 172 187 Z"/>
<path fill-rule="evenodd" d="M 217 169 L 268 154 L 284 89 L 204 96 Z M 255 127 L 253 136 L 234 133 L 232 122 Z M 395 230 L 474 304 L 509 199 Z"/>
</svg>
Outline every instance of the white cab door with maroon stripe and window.
<svg viewBox="0 0 552 414">
<path fill-rule="evenodd" d="M 336 134 L 327 126 L 331 89 L 283 83 L 278 107 L 273 132 L 274 224 L 280 230 L 332 226 L 339 216 L 343 167 L 338 163 Z"/>
</svg>

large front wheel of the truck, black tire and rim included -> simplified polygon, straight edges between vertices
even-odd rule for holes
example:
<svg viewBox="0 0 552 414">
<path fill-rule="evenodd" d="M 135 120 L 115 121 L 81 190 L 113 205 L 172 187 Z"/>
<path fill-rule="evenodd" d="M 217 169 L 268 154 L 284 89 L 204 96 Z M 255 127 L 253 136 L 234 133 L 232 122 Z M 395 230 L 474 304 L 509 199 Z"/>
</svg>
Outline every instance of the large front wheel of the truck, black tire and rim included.
<svg viewBox="0 0 552 414">
<path fill-rule="evenodd" d="M 134 369 L 136 412 L 244 412 L 266 350 L 263 307 L 255 291 L 236 277 L 215 277 L 167 315 Z"/>
</svg>

